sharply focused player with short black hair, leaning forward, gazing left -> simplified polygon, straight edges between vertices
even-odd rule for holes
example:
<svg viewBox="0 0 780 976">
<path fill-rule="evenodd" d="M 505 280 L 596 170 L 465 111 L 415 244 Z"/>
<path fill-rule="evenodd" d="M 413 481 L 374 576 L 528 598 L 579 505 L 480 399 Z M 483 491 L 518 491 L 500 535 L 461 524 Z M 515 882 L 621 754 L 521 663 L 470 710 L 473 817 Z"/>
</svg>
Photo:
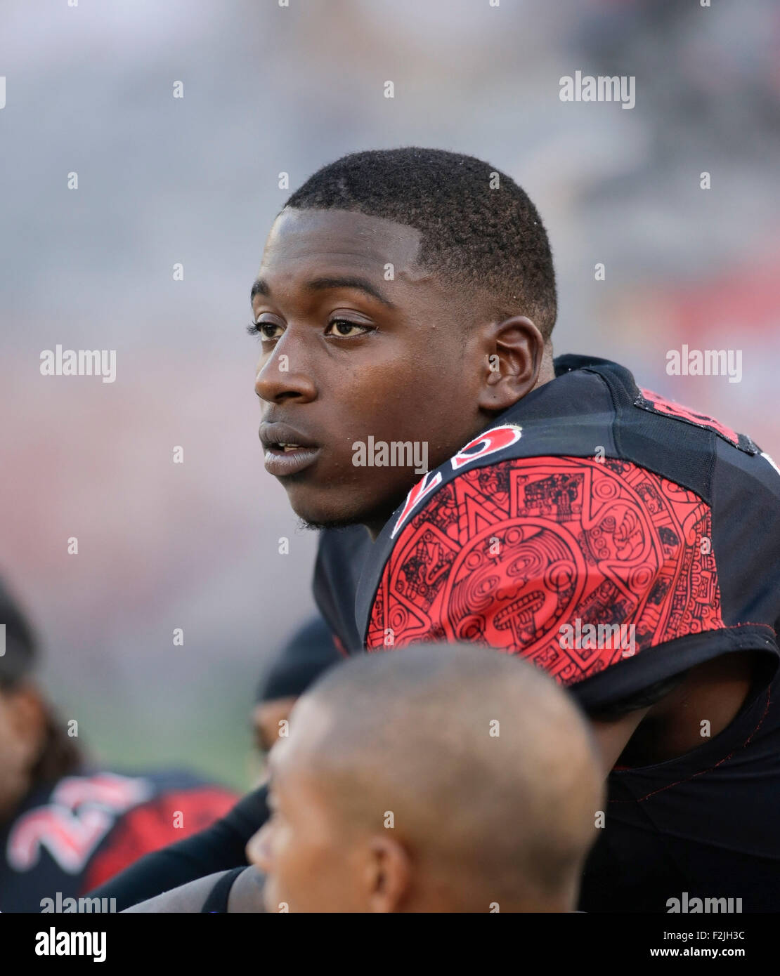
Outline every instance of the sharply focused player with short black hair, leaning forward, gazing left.
<svg viewBox="0 0 780 976">
<path fill-rule="evenodd" d="M 780 908 L 771 459 L 614 363 L 554 361 L 544 226 L 472 157 L 324 167 L 252 302 L 266 466 L 328 530 L 315 591 L 343 648 L 473 640 L 572 690 L 609 774 L 584 909 Z M 248 798 L 186 852 L 232 867 L 264 813 Z"/>
</svg>

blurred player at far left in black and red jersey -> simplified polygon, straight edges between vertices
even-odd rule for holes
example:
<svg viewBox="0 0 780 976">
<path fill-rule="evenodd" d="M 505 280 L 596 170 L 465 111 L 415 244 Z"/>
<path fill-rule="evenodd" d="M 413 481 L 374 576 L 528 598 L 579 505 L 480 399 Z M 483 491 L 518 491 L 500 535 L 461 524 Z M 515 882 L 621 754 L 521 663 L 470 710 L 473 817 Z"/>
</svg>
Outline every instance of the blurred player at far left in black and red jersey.
<svg viewBox="0 0 780 976">
<path fill-rule="evenodd" d="M 77 912 L 90 888 L 214 823 L 235 793 L 184 771 L 90 763 L 35 682 L 34 635 L 2 584 L 0 626 L 0 912 Z M 81 909 L 93 910 L 110 902 Z"/>
</svg>

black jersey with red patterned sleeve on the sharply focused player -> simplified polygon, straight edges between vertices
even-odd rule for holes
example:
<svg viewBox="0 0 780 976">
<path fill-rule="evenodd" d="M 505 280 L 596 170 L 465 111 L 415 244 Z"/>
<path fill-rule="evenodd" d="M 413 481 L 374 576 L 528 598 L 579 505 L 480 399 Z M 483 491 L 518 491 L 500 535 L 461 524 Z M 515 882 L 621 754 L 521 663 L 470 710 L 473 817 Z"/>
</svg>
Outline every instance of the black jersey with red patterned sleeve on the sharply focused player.
<svg viewBox="0 0 780 976">
<path fill-rule="evenodd" d="M 560 356 L 376 542 L 323 533 L 314 593 L 347 653 L 472 641 L 547 671 L 591 714 L 758 652 L 725 730 L 612 771 L 580 908 L 667 912 L 687 892 L 779 911 L 779 515 L 780 471 L 750 437 L 616 363 Z"/>
</svg>

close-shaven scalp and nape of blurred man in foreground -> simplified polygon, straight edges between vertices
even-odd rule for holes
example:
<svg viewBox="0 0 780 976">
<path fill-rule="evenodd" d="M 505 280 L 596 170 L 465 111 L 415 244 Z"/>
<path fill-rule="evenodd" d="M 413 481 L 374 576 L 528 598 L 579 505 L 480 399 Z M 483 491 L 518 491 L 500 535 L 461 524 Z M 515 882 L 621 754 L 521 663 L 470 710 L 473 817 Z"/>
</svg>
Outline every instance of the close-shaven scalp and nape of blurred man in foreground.
<svg viewBox="0 0 780 976">
<path fill-rule="evenodd" d="M 306 773 L 336 842 L 402 848 L 395 910 L 574 907 L 599 760 L 573 700 L 536 668 L 473 645 L 354 658 L 300 700 L 277 750 L 279 780 Z"/>
</svg>

